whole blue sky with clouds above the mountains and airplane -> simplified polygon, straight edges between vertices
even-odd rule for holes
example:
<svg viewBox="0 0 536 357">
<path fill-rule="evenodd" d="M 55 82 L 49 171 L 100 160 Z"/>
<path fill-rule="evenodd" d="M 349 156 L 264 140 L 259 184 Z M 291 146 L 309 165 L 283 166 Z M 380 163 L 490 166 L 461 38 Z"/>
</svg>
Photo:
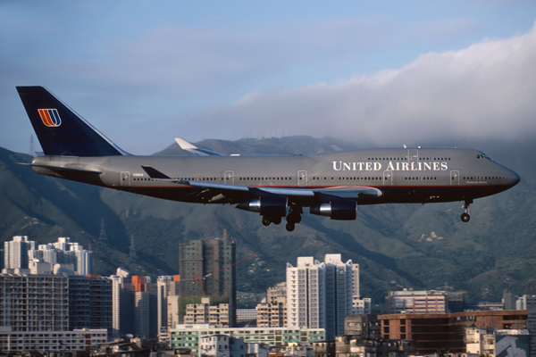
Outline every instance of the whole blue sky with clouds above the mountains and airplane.
<svg viewBox="0 0 536 357">
<path fill-rule="evenodd" d="M 174 137 L 532 140 L 535 21 L 529 0 L 4 0 L 0 146 L 35 136 L 16 86 L 131 154 Z"/>
</svg>

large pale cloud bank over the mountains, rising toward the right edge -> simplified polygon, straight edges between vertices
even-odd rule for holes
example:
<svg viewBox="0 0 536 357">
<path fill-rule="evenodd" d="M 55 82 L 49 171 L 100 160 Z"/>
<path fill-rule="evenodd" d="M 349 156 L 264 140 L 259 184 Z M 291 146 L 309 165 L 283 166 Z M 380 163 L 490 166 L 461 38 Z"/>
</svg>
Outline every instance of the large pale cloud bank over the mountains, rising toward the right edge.
<svg viewBox="0 0 536 357">
<path fill-rule="evenodd" d="M 523 35 L 423 54 L 398 70 L 249 93 L 200 112 L 188 127 L 205 137 L 306 134 L 419 145 L 532 136 L 534 114 L 536 24 Z"/>
</svg>

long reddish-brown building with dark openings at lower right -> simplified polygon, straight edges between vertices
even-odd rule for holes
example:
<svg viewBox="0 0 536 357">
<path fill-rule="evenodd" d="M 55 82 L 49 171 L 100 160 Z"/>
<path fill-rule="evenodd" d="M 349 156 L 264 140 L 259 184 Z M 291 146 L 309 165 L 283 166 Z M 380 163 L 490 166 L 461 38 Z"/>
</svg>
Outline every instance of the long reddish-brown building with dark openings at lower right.
<svg viewBox="0 0 536 357">
<path fill-rule="evenodd" d="M 381 338 L 415 340 L 419 353 L 465 353 L 465 328 L 518 330 L 527 325 L 529 311 L 464 311 L 378 315 Z"/>
</svg>

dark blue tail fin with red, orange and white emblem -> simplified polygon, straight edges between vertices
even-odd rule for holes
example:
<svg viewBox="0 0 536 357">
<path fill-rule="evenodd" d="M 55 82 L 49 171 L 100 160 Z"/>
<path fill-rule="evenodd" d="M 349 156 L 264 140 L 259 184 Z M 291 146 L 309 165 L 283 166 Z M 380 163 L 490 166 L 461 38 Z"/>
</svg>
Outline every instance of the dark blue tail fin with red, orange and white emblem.
<svg viewBox="0 0 536 357">
<path fill-rule="evenodd" d="M 46 155 L 126 154 L 44 87 L 17 87 Z"/>
</svg>

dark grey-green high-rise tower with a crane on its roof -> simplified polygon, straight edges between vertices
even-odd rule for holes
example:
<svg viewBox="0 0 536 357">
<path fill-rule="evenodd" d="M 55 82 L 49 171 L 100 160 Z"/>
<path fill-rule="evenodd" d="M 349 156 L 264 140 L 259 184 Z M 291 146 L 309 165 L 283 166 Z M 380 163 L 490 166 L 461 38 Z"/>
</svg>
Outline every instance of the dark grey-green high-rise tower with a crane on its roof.
<svg viewBox="0 0 536 357">
<path fill-rule="evenodd" d="M 226 239 L 195 240 L 180 244 L 180 321 L 188 303 L 229 303 L 230 326 L 236 323 L 236 245 Z M 196 298 L 192 300 L 192 298 Z"/>
</svg>

